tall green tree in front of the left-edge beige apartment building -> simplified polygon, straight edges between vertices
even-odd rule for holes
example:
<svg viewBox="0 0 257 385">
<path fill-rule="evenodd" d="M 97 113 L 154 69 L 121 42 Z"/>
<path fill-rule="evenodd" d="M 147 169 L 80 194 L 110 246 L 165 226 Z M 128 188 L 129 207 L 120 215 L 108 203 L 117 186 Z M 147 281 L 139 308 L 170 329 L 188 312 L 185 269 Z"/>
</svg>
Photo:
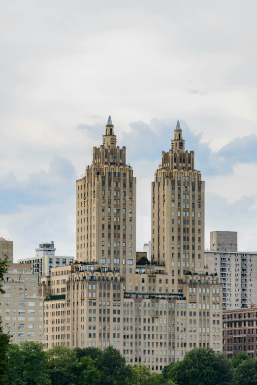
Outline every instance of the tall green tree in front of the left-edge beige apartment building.
<svg viewBox="0 0 257 385">
<path fill-rule="evenodd" d="M 21 344 L 21 350 L 24 354 L 23 377 L 28 385 L 51 385 L 43 344 L 25 341 Z"/>
</svg>

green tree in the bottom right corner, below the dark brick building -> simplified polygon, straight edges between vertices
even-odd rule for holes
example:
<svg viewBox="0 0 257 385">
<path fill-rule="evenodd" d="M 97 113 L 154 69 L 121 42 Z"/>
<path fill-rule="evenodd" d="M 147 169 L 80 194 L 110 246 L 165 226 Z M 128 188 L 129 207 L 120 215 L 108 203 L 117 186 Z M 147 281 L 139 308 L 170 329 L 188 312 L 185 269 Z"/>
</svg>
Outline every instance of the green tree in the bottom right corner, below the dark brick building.
<svg viewBox="0 0 257 385">
<path fill-rule="evenodd" d="M 257 359 L 245 359 L 235 369 L 236 385 L 257 385 Z"/>
</svg>

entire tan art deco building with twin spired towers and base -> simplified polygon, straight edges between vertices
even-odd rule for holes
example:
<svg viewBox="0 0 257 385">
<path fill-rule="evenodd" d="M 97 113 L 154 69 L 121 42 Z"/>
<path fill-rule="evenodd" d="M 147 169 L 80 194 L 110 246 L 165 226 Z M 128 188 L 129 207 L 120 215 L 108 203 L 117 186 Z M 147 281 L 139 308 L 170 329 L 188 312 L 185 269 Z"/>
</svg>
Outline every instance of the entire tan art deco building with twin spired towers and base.
<svg viewBox="0 0 257 385">
<path fill-rule="evenodd" d="M 150 265 L 136 261 L 136 178 L 111 117 L 76 193 L 78 263 L 65 279 L 51 273 L 65 295 L 44 302 L 46 349 L 112 345 L 157 372 L 195 347 L 221 352 L 220 285 L 204 266 L 204 182 L 179 122 L 152 182 Z"/>
</svg>

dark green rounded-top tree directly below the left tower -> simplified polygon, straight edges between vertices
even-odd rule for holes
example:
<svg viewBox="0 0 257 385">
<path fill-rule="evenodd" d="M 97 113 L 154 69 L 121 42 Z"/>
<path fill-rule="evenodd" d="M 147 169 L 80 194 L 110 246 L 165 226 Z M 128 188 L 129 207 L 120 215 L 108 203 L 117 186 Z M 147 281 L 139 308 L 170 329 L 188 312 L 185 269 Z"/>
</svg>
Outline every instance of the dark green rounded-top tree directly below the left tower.
<svg viewBox="0 0 257 385">
<path fill-rule="evenodd" d="M 102 385 L 124 385 L 129 373 L 125 357 L 112 346 L 105 349 L 99 358 L 98 368 L 102 373 Z"/>
</svg>

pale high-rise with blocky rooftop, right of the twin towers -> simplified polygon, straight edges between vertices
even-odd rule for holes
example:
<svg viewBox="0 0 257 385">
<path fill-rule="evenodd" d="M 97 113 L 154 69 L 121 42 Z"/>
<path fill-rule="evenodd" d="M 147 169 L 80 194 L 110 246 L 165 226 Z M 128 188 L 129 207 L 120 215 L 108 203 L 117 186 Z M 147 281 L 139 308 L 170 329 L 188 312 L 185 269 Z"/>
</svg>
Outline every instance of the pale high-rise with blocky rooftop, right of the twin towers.
<svg viewBox="0 0 257 385">
<path fill-rule="evenodd" d="M 257 252 L 237 250 L 237 232 L 212 231 L 205 265 L 220 277 L 224 310 L 257 304 Z"/>
</svg>

